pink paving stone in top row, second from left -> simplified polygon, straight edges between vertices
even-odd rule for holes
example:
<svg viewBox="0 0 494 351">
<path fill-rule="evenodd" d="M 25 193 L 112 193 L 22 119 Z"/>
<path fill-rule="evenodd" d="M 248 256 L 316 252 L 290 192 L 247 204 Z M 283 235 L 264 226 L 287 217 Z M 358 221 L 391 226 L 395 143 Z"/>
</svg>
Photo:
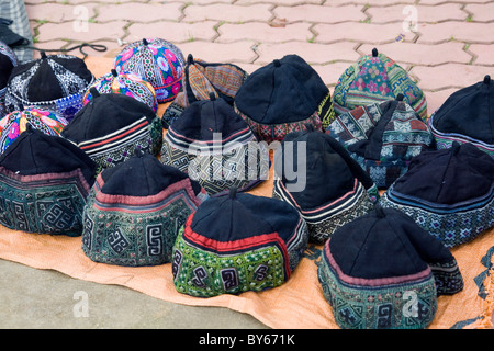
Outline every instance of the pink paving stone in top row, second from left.
<svg viewBox="0 0 494 351">
<path fill-rule="evenodd" d="M 179 2 L 169 3 L 121 3 L 105 4 L 100 2 L 98 5 L 98 22 L 125 20 L 132 22 L 154 22 L 160 20 L 178 21 L 182 18 L 182 8 L 184 4 Z M 136 15 L 142 13 L 142 15 Z"/>
</svg>

